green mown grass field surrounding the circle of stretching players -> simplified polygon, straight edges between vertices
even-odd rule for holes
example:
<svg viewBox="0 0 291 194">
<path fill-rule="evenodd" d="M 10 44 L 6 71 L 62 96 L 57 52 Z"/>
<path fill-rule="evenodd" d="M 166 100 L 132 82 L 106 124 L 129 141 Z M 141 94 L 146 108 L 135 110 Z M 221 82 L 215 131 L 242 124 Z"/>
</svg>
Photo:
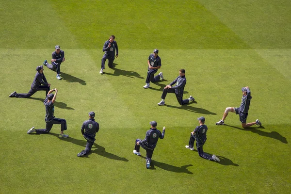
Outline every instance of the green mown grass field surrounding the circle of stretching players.
<svg viewBox="0 0 291 194">
<path fill-rule="evenodd" d="M 289 0 L 0 0 L 0 193 L 1 194 L 287 194 L 291 191 L 291 1 Z M 99 74 L 102 47 L 111 34 L 119 47 L 115 69 Z M 55 116 L 65 118 L 70 137 L 28 135 L 45 127 L 45 92 L 26 93 L 35 67 L 65 51 Z M 165 81 L 144 89 L 147 57 L 159 49 Z M 186 69 L 180 106 L 162 88 Z M 216 126 L 226 107 L 238 107 L 249 86 L 248 122 L 238 115 Z M 81 125 L 94 111 L 100 124 L 92 153 L 78 158 L 86 141 Z M 185 148 L 204 116 L 204 151 L 220 163 Z M 132 153 L 149 121 L 166 126 L 147 170 Z M 195 149 L 196 150 L 196 149 Z"/>
</svg>

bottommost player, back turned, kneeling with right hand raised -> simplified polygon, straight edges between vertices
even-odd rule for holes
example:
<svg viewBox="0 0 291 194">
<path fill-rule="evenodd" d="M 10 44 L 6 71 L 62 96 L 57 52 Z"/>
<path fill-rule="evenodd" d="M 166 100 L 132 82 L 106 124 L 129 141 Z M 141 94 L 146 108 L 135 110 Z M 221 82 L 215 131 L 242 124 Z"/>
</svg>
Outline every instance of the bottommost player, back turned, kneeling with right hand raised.
<svg viewBox="0 0 291 194">
<path fill-rule="evenodd" d="M 146 150 L 146 168 L 149 169 L 151 158 L 159 138 L 163 139 L 166 127 L 162 128 L 162 132 L 157 129 L 157 122 L 152 121 L 149 123 L 151 128 L 146 131 L 146 138 L 144 140 L 136 139 L 133 153 L 140 156 L 140 146 Z"/>
</svg>

